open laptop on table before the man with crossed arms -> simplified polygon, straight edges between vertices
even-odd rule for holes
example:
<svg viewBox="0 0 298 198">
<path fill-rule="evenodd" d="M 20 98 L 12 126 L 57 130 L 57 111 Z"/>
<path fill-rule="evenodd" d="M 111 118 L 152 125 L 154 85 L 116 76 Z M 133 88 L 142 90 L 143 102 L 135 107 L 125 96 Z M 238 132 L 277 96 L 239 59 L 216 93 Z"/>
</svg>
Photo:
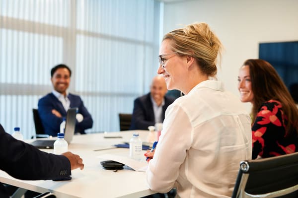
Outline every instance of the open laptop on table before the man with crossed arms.
<svg viewBox="0 0 298 198">
<path fill-rule="evenodd" d="M 67 111 L 66 115 L 66 124 L 65 124 L 65 131 L 64 131 L 64 139 L 67 141 L 68 144 L 71 143 L 74 137 L 74 129 L 75 129 L 75 116 L 76 116 L 77 108 L 70 108 Z M 43 139 L 43 140 L 35 140 L 31 142 L 33 146 L 37 148 L 54 148 L 54 142 L 56 139 Z"/>
</svg>

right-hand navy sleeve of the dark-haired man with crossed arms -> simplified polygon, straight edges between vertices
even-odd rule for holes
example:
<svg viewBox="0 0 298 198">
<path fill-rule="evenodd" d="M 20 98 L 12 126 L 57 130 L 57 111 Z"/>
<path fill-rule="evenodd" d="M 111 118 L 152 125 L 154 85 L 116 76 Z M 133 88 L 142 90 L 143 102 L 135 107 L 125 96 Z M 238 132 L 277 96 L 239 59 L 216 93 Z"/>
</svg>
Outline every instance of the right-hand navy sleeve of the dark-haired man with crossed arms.
<svg viewBox="0 0 298 198">
<path fill-rule="evenodd" d="M 79 97 L 79 100 L 80 100 L 80 102 L 79 102 L 77 113 L 80 113 L 84 117 L 84 119 L 82 122 L 76 124 L 75 131 L 76 132 L 84 132 L 84 130 L 92 128 L 93 120 L 92 120 L 91 114 L 88 112 L 88 110 L 84 106 L 84 103 L 80 99 L 80 97 Z"/>
</svg>

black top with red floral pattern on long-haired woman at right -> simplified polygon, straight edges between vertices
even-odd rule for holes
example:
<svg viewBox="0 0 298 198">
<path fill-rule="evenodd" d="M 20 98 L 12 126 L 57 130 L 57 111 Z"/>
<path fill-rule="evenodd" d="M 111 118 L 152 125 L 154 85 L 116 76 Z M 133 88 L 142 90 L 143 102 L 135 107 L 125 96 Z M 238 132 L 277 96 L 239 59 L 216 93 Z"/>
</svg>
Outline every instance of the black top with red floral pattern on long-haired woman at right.
<svg viewBox="0 0 298 198">
<path fill-rule="evenodd" d="M 252 126 L 252 159 L 273 157 L 298 151 L 298 137 L 285 137 L 287 117 L 282 104 L 269 100 L 262 104 Z"/>
</svg>

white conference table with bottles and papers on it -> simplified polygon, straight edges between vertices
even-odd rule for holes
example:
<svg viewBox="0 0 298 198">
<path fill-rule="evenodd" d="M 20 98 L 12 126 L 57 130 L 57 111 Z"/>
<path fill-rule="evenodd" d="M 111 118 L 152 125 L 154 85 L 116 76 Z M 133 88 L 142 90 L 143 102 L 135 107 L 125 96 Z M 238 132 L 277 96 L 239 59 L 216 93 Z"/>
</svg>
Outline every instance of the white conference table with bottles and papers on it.
<svg viewBox="0 0 298 198">
<path fill-rule="evenodd" d="M 0 171 L 0 182 L 39 193 L 52 192 L 57 198 L 140 198 L 154 194 L 155 192 L 151 191 L 147 185 L 145 172 L 137 172 L 130 168 L 113 172 L 103 169 L 100 165 L 103 159 L 98 156 L 103 154 L 129 156 L 128 148 L 112 148 L 112 145 L 129 141 L 133 132 L 139 132 L 142 141 L 147 141 L 148 131 L 74 135 L 68 149 L 80 155 L 85 167 L 83 170 L 73 170 L 70 181 L 25 181 L 15 179 Z M 123 138 L 104 138 L 104 136 L 122 136 Z M 53 149 L 43 150 L 53 152 Z"/>
</svg>

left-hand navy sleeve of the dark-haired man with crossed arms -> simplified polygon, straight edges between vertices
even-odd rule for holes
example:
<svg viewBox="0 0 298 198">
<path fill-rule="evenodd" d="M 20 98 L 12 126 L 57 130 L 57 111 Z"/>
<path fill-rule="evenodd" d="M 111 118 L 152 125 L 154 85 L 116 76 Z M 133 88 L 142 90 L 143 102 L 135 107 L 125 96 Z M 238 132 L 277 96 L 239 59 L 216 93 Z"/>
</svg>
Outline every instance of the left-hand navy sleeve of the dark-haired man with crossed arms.
<svg viewBox="0 0 298 198">
<path fill-rule="evenodd" d="M 59 111 L 59 109 L 53 105 L 53 101 L 49 95 L 41 98 L 38 101 L 38 113 L 45 129 L 45 133 L 52 136 L 57 136 L 57 133 L 60 132 L 60 124 L 62 123 L 63 118 L 58 118 L 52 114 L 53 109 Z"/>
</svg>

